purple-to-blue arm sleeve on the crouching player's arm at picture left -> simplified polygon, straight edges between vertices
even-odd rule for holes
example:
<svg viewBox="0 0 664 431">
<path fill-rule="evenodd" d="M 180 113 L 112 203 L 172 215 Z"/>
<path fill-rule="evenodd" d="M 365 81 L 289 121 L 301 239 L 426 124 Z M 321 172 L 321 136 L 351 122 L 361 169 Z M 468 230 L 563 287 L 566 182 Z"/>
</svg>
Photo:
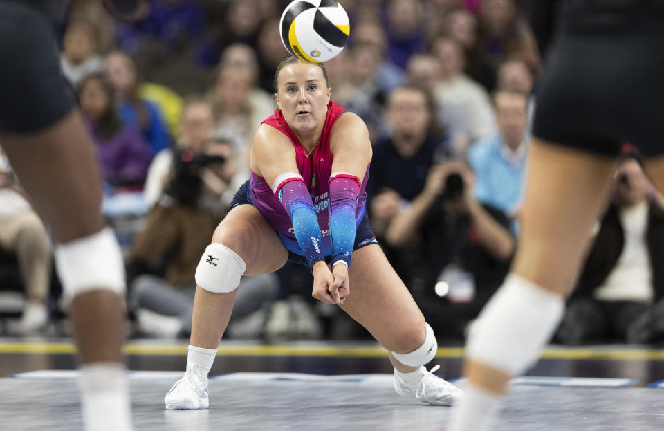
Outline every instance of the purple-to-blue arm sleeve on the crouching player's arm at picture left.
<svg viewBox="0 0 664 431">
<path fill-rule="evenodd" d="M 286 212 L 291 216 L 295 239 L 304 251 L 304 257 L 306 257 L 306 262 L 308 262 L 311 270 L 313 264 L 325 260 L 325 257 L 320 250 L 320 226 L 318 226 L 318 218 L 313 209 L 313 202 L 308 189 L 302 177 L 291 176 L 284 181 L 280 181 L 273 190 L 279 202 L 284 205 Z"/>
</svg>

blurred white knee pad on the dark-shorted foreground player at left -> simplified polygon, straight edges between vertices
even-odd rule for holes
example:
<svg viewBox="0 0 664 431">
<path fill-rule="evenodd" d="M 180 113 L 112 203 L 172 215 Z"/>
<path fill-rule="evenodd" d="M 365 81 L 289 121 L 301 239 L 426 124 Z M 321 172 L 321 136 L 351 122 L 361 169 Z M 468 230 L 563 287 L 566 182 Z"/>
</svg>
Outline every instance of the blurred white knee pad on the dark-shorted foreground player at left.
<svg viewBox="0 0 664 431">
<path fill-rule="evenodd" d="M 122 250 L 111 228 L 56 244 L 53 255 L 66 302 L 80 293 L 99 289 L 124 296 L 127 285 Z"/>
</svg>

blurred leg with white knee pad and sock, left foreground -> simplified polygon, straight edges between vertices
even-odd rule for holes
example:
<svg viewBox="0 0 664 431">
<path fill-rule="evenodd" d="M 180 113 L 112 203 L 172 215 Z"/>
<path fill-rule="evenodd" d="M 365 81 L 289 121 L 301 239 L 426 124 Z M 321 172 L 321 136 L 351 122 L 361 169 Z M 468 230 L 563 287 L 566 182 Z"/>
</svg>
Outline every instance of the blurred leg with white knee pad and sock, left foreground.
<svg viewBox="0 0 664 431">
<path fill-rule="evenodd" d="M 0 137 L 21 184 L 56 241 L 55 257 L 81 369 L 89 430 L 129 430 L 124 380 L 124 268 L 103 230 L 97 161 L 77 113 L 35 134 Z"/>
</svg>

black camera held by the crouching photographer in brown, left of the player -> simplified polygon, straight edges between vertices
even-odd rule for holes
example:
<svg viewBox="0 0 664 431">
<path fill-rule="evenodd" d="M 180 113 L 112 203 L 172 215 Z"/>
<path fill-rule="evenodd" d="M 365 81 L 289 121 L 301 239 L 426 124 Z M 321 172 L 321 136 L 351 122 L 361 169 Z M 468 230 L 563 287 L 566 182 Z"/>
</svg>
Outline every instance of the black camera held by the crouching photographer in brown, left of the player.
<svg viewBox="0 0 664 431">
<path fill-rule="evenodd" d="M 194 154 L 191 149 L 183 149 L 174 156 L 173 175 L 166 193 L 185 205 L 196 205 L 201 195 L 201 168 L 212 163 L 225 163 L 223 156 Z"/>
</svg>

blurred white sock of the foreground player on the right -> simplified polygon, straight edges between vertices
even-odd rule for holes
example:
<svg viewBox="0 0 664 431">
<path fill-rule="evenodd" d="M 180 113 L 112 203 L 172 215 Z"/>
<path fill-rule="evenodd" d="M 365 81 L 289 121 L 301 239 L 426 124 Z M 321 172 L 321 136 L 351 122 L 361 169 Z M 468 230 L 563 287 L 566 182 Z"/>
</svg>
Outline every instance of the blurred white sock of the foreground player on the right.
<svg viewBox="0 0 664 431">
<path fill-rule="evenodd" d="M 502 397 L 468 383 L 461 403 L 453 407 L 448 431 L 490 431 L 502 405 Z"/>
</svg>

